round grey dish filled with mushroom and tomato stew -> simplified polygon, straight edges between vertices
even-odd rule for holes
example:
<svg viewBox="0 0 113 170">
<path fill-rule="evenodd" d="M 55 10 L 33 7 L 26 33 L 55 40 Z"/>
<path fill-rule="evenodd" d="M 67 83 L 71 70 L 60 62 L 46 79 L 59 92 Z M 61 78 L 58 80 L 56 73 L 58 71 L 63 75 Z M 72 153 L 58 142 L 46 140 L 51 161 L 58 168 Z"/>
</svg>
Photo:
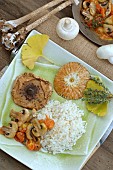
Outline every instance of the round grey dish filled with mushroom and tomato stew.
<svg viewBox="0 0 113 170">
<path fill-rule="evenodd" d="M 113 43 L 113 4 L 111 0 L 81 0 L 73 5 L 80 31 L 98 45 Z"/>
</svg>

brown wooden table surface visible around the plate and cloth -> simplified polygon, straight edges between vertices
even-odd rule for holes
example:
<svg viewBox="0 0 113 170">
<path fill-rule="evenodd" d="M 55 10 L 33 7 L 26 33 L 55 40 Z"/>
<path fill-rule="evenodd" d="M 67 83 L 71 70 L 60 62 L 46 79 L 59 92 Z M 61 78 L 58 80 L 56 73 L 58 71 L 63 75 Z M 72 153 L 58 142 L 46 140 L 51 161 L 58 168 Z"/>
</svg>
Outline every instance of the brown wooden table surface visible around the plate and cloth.
<svg viewBox="0 0 113 170">
<path fill-rule="evenodd" d="M 19 18 L 49 1 L 51 0 L 0 0 L 0 18 L 6 20 Z M 67 7 L 57 14 L 59 18 L 65 16 L 72 17 L 71 7 Z M 9 63 L 9 56 L 10 53 L 1 48 L 0 42 L 0 70 Z M 12 169 L 28 170 L 29 168 L 0 150 L 0 170 Z M 113 131 L 83 170 L 113 170 Z"/>
</svg>

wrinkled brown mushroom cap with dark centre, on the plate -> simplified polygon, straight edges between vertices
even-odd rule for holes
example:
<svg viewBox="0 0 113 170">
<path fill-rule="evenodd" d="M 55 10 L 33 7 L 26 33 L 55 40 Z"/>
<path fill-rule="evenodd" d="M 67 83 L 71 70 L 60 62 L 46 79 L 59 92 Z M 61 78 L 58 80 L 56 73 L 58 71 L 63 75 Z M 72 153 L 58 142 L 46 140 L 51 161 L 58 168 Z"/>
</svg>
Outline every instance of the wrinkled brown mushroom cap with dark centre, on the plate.
<svg viewBox="0 0 113 170">
<path fill-rule="evenodd" d="M 49 81 L 24 73 L 16 78 L 12 88 L 13 101 L 24 108 L 39 110 L 44 107 L 52 95 Z"/>
</svg>

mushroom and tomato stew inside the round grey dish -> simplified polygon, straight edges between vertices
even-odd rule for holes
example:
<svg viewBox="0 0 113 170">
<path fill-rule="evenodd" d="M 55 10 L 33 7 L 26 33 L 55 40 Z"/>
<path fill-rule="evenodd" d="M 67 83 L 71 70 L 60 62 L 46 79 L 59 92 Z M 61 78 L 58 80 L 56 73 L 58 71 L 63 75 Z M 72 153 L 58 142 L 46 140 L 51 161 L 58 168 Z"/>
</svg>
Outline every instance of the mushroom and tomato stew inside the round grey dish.
<svg viewBox="0 0 113 170">
<path fill-rule="evenodd" d="M 81 13 L 86 25 L 101 39 L 113 40 L 113 3 L 111 0 L 83 0 Z"/>
</svg>

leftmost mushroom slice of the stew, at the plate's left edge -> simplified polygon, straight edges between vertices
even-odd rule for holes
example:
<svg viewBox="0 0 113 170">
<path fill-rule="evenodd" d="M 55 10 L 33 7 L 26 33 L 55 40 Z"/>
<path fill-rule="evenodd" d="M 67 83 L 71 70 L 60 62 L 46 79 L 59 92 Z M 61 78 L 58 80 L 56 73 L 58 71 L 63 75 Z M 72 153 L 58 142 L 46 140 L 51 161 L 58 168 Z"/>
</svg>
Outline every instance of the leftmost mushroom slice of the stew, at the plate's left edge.
<svg viewBox="0 0 113 170">
<path fill-rule="evenodd" d="M 2 130 L 7 138 L 14 138 L 16 132 L 18 131 L 18 124 L 14 121 L 11 121 L 9 126 L 3 126 Z"/>
</svg>

